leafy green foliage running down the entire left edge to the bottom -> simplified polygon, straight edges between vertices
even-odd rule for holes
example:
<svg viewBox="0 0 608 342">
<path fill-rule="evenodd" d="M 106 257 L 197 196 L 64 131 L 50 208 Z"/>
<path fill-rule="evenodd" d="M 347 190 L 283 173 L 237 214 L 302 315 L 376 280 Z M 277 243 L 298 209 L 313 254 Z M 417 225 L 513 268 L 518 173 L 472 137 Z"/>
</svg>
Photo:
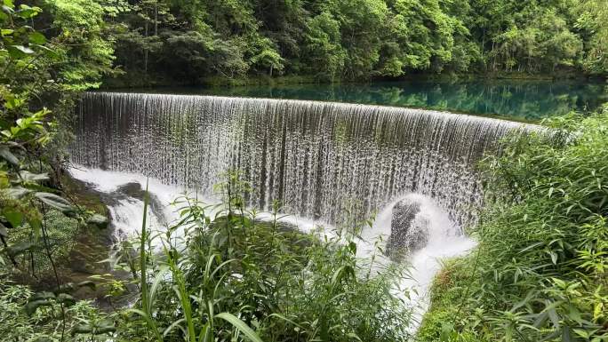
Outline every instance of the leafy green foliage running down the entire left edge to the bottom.
<svg viewBox="0 0 608 342">
<path fill-rule="evenodd" d="M 0 12 L 0 330 L 7 340 L 66 340 L 69 330 L 95 334 L 108 323 L 72 293 L 89 282 L 62 284 L 56 265 L 66 257 L 78 227 L 92 217 L 61 196 L 56 187 L 57 154 L 46 148 L 60 139 L 48 107 L 68 108 L 70 92 L 92 86 L 109 68 L 111 49 L 102 46 L 105 25 L 91 2 L 41 2 L 39 6 L 4 0 Z M 44 10 L 49 10 L 44 12 Z M 49 16 L 49 14 L 51 14 Z M 52 22 L 52 25 L 45 25 Z M 70 26 L 71 25 L 71 26 Z M 69 29 L 76 31 L 72 35 Z M 44 34 L 43 34 L 44 32 Z M 78 55 L 84 53 L 84 55 Z M 105 61 L 104 61 L 105 59 Z M 105 63 L 105 64 L 104 64 Z M 66 91 L 63 93 L 62 91 Z M 44 100 L 43 100 L 44 99 Z M 69 108 L 68 110 L 71 110 Z M 59 227 L 58 227 L 59 226 Z M 51 231 L 52 230 L 52 231 Z M 66 238 L 66 236 L 68 236 Z M 42 261 L 41 261 L 42 260 Z M 9 262 L 10 261 L 10 265 Z M 32 293 L 5 279 L 31 273 L 52 291 Z M 87 322 L 76 326 L 76 322 Z M 91 325 L 93 324 L 93 325 Z M 75 332 L 75 334 L 76 334 Z"/>
</svg>

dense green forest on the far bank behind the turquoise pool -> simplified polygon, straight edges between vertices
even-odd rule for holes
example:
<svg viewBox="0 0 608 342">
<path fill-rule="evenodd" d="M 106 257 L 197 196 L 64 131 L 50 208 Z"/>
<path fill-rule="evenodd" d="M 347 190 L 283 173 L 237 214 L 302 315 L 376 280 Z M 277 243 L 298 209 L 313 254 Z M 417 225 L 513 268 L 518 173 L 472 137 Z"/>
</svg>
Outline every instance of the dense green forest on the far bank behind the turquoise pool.
<svg viewBox="0 0 608 342">
<path fill-rule="evenodd" d="M 74 26 L 71 35 L 97 35 L 87 44 L 94 43 L 101 65 L 114 60 L 126 73 L 118 84 L 244 76 L 605 76 L 608 70 L 604 0 L 34 3 L 51 16 L 41 28 L 54 20 Z"/>
</svg>

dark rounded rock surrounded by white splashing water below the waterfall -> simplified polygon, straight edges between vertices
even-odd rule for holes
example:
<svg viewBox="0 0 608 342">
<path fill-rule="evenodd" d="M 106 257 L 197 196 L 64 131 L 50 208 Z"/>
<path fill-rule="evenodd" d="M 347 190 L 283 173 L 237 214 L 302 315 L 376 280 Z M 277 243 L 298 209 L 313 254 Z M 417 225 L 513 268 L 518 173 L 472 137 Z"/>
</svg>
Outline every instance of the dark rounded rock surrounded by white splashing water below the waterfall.
<svg viewBox="0 0 608 342">
<path fill-rule="evenodd" d="M 404 198 L 395 204 L 387 251 L 416 251 L 428 243 L 428 222 L 420 218 L 420 203 Z"/>
</svg>

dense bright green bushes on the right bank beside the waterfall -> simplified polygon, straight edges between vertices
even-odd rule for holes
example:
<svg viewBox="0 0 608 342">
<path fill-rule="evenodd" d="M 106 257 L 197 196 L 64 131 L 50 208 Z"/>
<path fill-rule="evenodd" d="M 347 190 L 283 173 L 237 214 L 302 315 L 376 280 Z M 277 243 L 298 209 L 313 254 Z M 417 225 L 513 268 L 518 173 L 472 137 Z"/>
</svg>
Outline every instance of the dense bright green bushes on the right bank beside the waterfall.
<svg viewBox="0 0 608 342">
<path fill-rule="evenodd" d="M 555 136 L 485 161 L 492 205 L 473 230 L 479 246 L 444 271 L 452 286 L 436 295 L 426 340 L 450 316 L 442 340 L 608 339 L 607 115 L 548 122 Z"/>
</svg>

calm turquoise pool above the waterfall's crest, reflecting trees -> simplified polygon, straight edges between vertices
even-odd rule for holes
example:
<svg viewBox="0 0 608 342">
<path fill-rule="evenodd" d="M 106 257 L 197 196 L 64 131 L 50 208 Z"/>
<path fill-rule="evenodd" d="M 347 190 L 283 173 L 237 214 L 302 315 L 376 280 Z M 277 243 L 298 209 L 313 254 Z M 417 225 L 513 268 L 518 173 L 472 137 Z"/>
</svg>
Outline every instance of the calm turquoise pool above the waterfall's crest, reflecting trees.
<svg viewBox="0 0 608 342">
<path fill-rule="evenodd" d="M 314 99 L 420 107 L 473 115 L 537 121 L 572 110 L 589 112 L 608 102 L 608 84 L 581 81 L 407 81 L 372 84 L 278 84 L 218 88 L 156 89 L 273 99 Z"/>
</svg>

